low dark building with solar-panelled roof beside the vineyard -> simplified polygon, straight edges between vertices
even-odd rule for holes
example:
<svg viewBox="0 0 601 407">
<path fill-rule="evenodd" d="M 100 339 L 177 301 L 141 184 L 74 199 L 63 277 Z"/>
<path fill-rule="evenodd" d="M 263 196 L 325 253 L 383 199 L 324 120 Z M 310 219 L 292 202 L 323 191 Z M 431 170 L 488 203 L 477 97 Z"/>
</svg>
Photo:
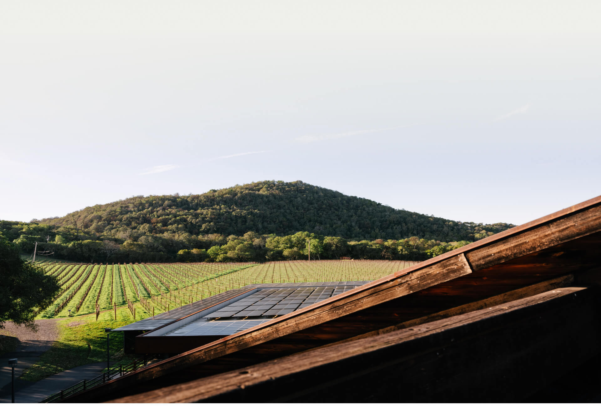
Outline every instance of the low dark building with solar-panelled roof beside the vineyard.
<svg viewBox="0 0 601 407">
<path fill-rule="evenodd" d="M 135 337 L 135 351 L 177 354 L 364 285 L 358 282 L 252 284 L 204 298 L 116 328 L 148 331 Z"/>
</svg>

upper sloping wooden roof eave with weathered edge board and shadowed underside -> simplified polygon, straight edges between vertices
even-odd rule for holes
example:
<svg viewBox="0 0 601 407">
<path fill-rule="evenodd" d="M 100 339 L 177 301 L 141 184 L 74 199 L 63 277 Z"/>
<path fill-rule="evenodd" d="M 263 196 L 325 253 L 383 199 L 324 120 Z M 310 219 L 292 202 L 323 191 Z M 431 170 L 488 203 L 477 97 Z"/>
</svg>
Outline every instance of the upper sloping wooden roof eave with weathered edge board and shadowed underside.
<svg viewBox="0 0 601 407">
<path fill-rule="evenodd" d="M 421 262 L 313 306 L 115 379 L 69 401 L 102 401 L 229 372 L 448 316 L 600 265 L 601 196 Z M 565 277 L 565 278 L 564 278 Z M 524 289 L 540 285 L 540 289 Z M 540 291 L 542 290 L 542 291 Z M 461 312 L 461 311 L 456 311 Z"/>
</svg>

